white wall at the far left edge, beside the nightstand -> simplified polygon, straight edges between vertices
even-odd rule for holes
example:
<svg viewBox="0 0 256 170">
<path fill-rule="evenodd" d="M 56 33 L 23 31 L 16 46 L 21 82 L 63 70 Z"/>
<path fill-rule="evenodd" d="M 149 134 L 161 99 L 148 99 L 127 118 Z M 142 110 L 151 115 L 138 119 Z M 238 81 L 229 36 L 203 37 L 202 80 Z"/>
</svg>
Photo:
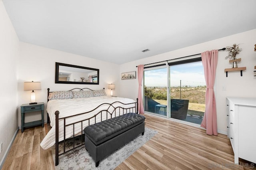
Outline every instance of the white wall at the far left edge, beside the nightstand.
<svg viewBox="0 0 256 170">
<path fill-rule="evenodd" d="M 19 40 L 12 23 L 6 13 L 3 2 L 0 1 L 0 143 L 3 150 L 0 153 L 0 163 L 18 128 L 17 104 L 17 60 Z"/>
</svg>

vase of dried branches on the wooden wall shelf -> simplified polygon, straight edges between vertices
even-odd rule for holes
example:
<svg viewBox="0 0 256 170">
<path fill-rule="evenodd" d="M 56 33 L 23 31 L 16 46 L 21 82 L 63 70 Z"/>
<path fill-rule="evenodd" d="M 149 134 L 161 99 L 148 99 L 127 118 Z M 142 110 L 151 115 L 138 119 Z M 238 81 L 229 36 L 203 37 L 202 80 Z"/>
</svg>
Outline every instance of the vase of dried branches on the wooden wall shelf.
<svg viewBox="0 0 256 170">
<path fill-rule="evenodd" d="M 225 59 L 231 59 L 229 62 L 232 63 L 232 68 L 236 68 L 237 61 L 241 61 L 241 58 L 236 59 L 236 54 L 239 54 L 240 51 L 242 51 L 242 48 L 239 48 L 239 44 L 236 45 L 234 43 L 232 47 L 226 47 L 226 50 L 228 51 L 228 56 L 226 56 Z"/>
</svg>

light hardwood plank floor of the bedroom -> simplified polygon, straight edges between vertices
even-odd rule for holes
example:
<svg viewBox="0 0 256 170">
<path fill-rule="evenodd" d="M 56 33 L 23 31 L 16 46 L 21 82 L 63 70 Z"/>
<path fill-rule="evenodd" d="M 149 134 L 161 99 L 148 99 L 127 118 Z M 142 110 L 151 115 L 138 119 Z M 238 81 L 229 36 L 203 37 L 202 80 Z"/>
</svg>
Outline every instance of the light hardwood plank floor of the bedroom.
<svg viewBox="0 0 256 170">
<path fill-rule="evenodd" d="M 206 135 L 204 129 L 145 115 L 146 127 L 158 133 L 128 157 L 116 170 L 186 170 L 186 169 L 251 169 L 234 164 L 234 154 L 226 135 Z M 18 132 L 3 170 L 53 170 L 52 150 L 43 150 L 40 142 L 45 128 L 34 127 Z M 248 164 L 247 164 L 248 163 Z M 246 166 L 248 168 L 246 168 Z M 255 165 L 256 166 L 256 165 Z"/>
</svg>

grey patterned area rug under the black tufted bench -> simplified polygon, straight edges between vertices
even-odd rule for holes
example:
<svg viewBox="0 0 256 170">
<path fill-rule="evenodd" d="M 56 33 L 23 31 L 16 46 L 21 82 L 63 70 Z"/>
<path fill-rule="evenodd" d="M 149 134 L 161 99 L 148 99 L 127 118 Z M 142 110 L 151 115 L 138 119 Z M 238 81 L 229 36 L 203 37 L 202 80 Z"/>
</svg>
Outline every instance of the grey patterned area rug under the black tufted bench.
<svg viewBox="0 0 256 170">
<path fill-rule="evenodd" d="M 95 162 L 92 157 L 85 150 L 84 146 L 80 146 L 73 151 L 63 154 L 59 157 L 59 165 L 55 166 L 56 170 L 113 170 L 119 164 L 121 164 L 126 158 L 133 154 L 138 148 L 140 148 L 144 143 L 146 143 L 150 138 L 152 138 L 157 133 L 156 130 L 145 127 L 144 135 L 141 134 L 132 140 L 131 142 L 125 144 L 113 154 L 106 156 L 106 158 L 100 161 L 99 166 L 95 167 Z M 52 147 L 55 163 L 55 151 Z"/>
</svg>

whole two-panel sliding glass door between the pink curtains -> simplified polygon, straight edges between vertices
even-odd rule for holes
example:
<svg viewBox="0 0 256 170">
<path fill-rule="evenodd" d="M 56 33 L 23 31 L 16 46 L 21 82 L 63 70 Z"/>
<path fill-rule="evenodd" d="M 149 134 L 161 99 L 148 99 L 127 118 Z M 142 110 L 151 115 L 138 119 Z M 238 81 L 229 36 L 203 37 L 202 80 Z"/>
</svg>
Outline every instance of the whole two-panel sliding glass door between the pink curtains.
<svg viewBox="0 0 256 170">
<path fill-rule="evenodd" d="M 206 83 L 201 58 L 144 68 L 146 112 L 201 124 Z"/>
</svg>

